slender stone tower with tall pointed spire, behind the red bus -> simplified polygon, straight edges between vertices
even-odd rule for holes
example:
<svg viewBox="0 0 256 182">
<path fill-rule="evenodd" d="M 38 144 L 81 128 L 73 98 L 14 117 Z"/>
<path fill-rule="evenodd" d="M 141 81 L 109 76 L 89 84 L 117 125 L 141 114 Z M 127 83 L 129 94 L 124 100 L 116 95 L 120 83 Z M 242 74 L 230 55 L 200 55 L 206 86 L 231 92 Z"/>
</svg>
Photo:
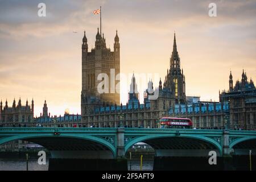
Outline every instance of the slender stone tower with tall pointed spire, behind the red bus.
<svg viewBox="0 0 256 182">
<path fill-rule="evenodd" d="M 185 94 L 185 76 L 183 69 L 180 69 L 180 56 L 177 52 L 176 37 L 174 34 L 174 48 L 170 58 L 170 70 L 167 69 L 167 76 L 164 81 L 164 87 L 170 88 L 175 97 L 176 104 L 186 102 Z"/>
</svg>

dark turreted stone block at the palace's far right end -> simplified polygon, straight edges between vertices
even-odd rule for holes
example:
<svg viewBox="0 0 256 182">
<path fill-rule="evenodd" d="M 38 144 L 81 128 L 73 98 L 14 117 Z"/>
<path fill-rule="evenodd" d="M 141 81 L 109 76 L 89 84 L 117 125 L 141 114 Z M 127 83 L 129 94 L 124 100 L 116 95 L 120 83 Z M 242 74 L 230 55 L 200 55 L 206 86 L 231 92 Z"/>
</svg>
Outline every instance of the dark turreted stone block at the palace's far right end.
<svg viewBox="0 0 256 182">
<path fill-rule="evenodd" d="M 247 81 L 246 73 L 242 72 L 242 80 L 233 86 L 230 72 L 229 90 L 220 93 L 220 102 L 229 102 L 230 127 L 245 130 L 256 129 L 256 89 L 253 80 Z"/>
</svg>

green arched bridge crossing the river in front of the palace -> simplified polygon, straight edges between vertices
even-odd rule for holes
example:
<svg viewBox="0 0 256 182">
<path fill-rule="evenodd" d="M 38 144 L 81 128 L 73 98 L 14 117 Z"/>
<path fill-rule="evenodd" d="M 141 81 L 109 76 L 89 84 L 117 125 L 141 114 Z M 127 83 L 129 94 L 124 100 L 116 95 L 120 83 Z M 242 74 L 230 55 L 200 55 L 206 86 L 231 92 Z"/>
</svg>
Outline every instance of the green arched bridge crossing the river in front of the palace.
<svg viewBox="0 0 256 182">
<path fill-rule="evenodd" d="M 233 156 L 249 155 L 250 150 L 251 154 L 256 154 L 256 131 L 245 130 L 0 128 L 0 144 L 13 140 L 26 140 L 47 148 L 51 153 L 52 163 L 55 159 L 76 161 L 87 159 L 91 163 L 107 160 L 108 164 L 115 166 L 114 169 L 126 169 L 121 167 L 123 163 L 127 164 L 125 154 L 138 142 L 147 143 L 154 148 L 154 168 L 161 166 L 168 157 L 209 158 L 210 151 L 216 152 L 222 166 L 229 163 L 227 161 Z M 205 161 L 208 163 L 208 160 Z"/>
</svg>

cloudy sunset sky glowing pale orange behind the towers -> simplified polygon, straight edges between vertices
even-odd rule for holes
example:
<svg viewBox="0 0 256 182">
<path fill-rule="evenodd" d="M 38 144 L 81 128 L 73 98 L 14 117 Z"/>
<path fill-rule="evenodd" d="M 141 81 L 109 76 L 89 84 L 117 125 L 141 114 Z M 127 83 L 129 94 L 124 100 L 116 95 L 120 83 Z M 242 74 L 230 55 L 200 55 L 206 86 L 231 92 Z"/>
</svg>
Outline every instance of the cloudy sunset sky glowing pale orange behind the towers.
<svg viewBox="0 0 256 182">
<path fill-rule="evenodd" d="M 46 3 L 46 17 L 38 4 Z M 208 15 L 209 3 L 217 17 Z M 113 50 L 115 30 L 121 45 L 121 101 L 126 103 L 132 73 L 167 73 L 176 32 L 177 50 L 186 78 L 187 96 L 218 101 L 242 69 L 256 81 L 256 1 L 1 1 L 0 97 L 35 101 L 35 116 L 46 99 L 51 114 L 81 113 L 81 43 L 86 31 L 94 47 L 102 6 L 102 32 Z M 77 33 L 74 33 L 77 32 Z M 136 76 L 135 74 L 135 76 Z M 151 78 L 150 76 L 147 80 Z M 154 80 L 154 86 L 159 80 Z M 139 80 L 138 82 L 145 82 Z M 139 88 L 146 88 L 146 84 Z M 143 90 L 141 92 L 141 102 Z"/>
</svg>

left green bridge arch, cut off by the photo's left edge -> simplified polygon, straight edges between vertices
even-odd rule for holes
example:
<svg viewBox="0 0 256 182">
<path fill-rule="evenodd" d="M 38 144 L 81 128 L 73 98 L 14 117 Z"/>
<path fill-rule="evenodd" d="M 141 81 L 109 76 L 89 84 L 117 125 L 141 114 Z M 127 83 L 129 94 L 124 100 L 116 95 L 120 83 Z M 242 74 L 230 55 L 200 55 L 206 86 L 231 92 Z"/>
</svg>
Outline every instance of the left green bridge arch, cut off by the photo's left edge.
<svg viewBox="0 0 256 182">
<path fill-rule="evenodd" d="M 115 147 L 113 144 L 109 143 L 105 139 L 95 137 L 93 135 L 71 135 L 71 134 L 61 134 L 58 136 L 55 136 L 53 134 L 18 134 L 18 135 L 13 135 L 13 136 L 2 136 L 0 137 L 0 145 L 6 142 L 11 142 L 14 140 L 26 140 L 28 142 L 33 142 L 33 140 L 39 141 L 39 142 L 34 142 L 38 143 L 44 147 L 47 148 L 42 142 L 40 142 L 40 139 L 73 139 L 73 140 L 80 140 L 86 142 L 90 142 L 90 144 L 95 143 L 95 144 L 100 144 L 104 148 L 107 148 L 113 155 L 113 158 L 117 156 Z M 48 149 L 48 148 L 47 148 Z"/>
</svg>

